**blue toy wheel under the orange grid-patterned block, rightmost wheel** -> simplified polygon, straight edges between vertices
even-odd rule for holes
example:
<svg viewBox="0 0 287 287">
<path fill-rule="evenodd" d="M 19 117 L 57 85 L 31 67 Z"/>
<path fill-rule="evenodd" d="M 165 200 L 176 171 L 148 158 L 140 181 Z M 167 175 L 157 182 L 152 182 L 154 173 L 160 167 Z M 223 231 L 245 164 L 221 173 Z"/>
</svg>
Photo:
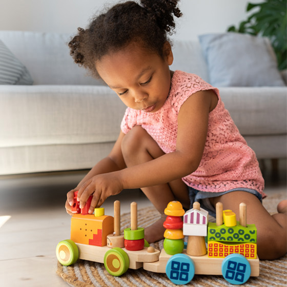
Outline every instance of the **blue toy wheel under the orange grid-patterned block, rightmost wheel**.
<svg viewBox="0 0 287 287">
<path fill-rule="evenodd" d="M 243 255 L 230 254 L 222 261 L 221 271 L 224 279 L 229 283 L 243 284 L 250 277 L 251 267 Z"/>
</svg>

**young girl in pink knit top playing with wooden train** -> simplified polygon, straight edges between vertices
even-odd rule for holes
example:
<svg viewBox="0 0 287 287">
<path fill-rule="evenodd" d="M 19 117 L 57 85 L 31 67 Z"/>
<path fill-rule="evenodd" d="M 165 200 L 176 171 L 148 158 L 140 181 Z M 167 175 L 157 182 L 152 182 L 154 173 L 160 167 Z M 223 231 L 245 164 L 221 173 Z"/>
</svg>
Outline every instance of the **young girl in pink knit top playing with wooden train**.
<svg viewBox="0 0 287 287">
<path fill-rule="evenodd" d="M 79 28 L 69 47 L 75 63 L 100 77 L 128 107 L 111 153 L 68 192 L 80 207 L 92 194 L 90 213 L 123 189 L 140 188 L 162 217 L 145 230 L 146 239 L 163 238 L 163 214 L 178 200 L 194 201 L 215 215 L 215 204 L 239 214 L 245 202 L 255 223 L 260 259 L 286 253 L 286 202 L 270 216 L 261 204 L 264 181 L 254 152 L 239 134 L 218 89 L 194 74 L 171 71 L 167 34 L 180 17 L 178 0 L 117 4 Z"/>
</svg>

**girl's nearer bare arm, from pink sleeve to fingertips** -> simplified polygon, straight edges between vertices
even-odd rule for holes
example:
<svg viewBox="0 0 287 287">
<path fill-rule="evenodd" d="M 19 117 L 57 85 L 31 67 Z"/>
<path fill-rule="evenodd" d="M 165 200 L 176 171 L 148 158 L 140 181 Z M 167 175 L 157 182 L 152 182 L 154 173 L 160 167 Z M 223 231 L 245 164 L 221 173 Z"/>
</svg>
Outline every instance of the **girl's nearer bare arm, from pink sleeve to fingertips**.
<svg viewBox="0 0 287 287">
<path fill-rule="evenodd" d="M 217 96 L 212 90 L 196 92 L 190 96 L 179 111 L 175 152 L 137 166 L 90 178 L 79 190 L 80 204 L 84 207 L 93 194 L 89 211 L 92 213 L 94 207 L 101 206 L 107 197 L 118 194 L 122 189 L 155 186 L 194 172 L 203 154 L 209 112 L 216 104 Z"/>
</svg>

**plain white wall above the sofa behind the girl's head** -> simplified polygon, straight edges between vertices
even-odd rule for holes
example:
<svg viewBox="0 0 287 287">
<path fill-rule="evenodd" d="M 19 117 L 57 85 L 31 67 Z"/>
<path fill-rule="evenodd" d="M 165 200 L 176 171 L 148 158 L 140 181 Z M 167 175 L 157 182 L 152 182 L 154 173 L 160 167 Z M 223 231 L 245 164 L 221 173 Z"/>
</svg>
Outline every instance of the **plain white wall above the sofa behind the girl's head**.
<svg viewBox="0 0 287 287">
<path fill-rule="evenodd" d="M 156 0 L 155 0 L 156 1 Z M 0 0 L 0 30 L 75 33 L 104 5 L 118 0 Z M 247 17 L 248 0 L 181 0 L 177 39 L 224 32 Z M 256 0 L 253 2 L 260 2 Z"/>
</svg>

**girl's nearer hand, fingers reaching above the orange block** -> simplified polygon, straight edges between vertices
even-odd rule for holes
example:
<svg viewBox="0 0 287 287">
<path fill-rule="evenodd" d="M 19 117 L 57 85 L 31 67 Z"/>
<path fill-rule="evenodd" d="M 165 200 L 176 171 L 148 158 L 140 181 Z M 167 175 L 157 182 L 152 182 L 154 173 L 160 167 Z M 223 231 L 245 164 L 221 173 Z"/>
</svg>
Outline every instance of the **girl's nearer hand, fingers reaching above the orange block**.
<svg viewBox="0 0 287 287">
<path fill-rule="evenodd" d="M 84 208 L 90 195 L 93 195 L 89 209 L 89 213 L 92 214 L 109 196 L 119 194 L 122 189 L 122 182 L 116 172 L 99 174 L 87 180 L 78 189 L 77 200 L 80 202 L 80 208 Z"/>
</svg>

